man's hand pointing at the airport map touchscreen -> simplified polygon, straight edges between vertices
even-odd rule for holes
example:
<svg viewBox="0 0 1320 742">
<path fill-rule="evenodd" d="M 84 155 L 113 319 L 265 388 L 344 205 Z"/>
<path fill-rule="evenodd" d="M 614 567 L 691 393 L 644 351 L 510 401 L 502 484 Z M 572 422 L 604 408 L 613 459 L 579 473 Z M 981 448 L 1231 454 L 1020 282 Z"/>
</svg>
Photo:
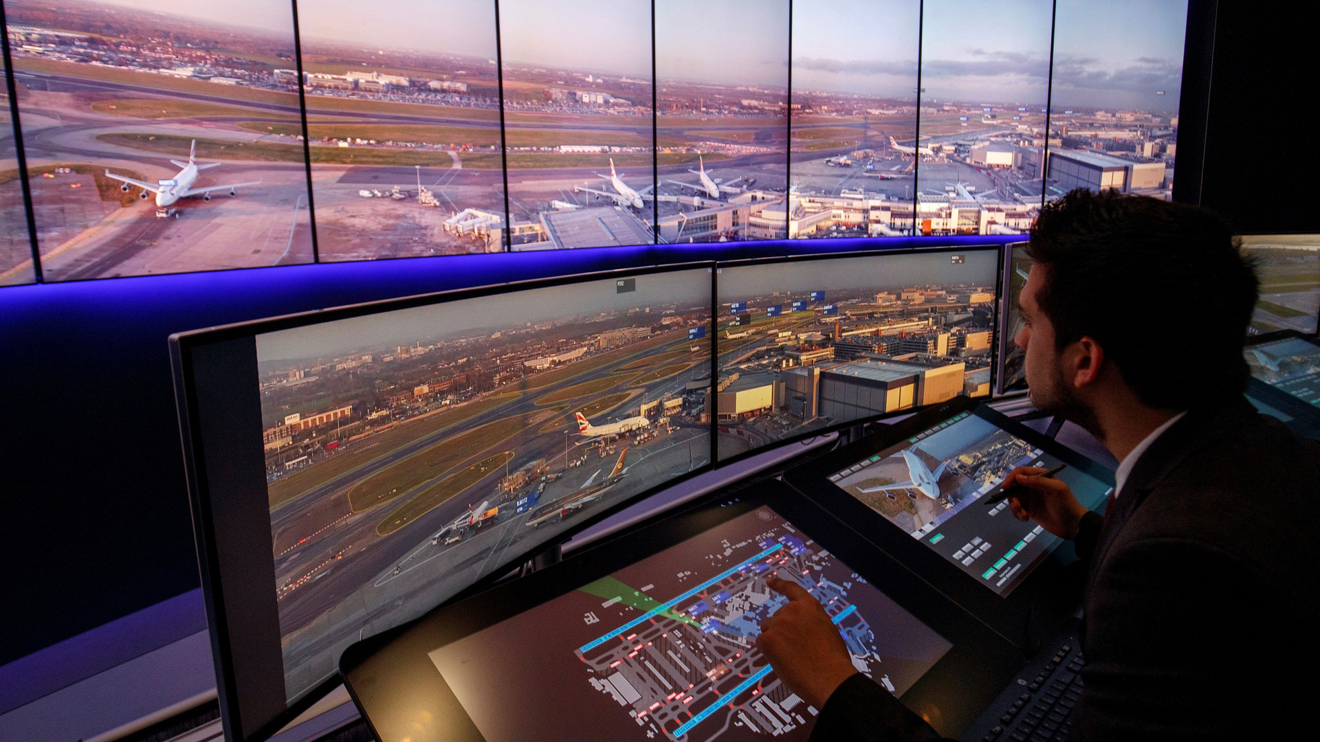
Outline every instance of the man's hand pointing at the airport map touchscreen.
<svg viewBox="0 0 1320 742">
<path fill-rule="evenodd" d="M 843 638 L 824 606 L 801 585 L 779 577 L 766 585 L 788 598 L 788 605 L 760 623 L 756 648 L 789 691 L 817 710 L 824 709 L 834 689 L 857 673 Z"/>
</svg>

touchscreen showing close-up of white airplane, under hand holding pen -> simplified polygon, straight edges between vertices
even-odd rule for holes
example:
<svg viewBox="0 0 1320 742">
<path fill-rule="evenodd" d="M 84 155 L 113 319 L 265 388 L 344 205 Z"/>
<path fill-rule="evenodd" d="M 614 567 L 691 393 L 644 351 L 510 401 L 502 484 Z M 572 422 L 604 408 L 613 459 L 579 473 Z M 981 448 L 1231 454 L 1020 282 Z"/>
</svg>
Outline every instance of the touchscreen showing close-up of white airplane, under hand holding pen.
<svg viewBox="0 0 1320 742">
<path fill-rule="evenodd" d="M 962 412 L 899 445 L 830 475 L 830 482 L 956 564 L 977 582 L 1007 595 L 1061 543 L 1008 512 L 999 491 L 1015 466 L 1051 469 L 1060 461 Z M 1113 487 L 1074 467 L 1056 475 L 1078 502 L 1097 508 Z"/>
</svg>

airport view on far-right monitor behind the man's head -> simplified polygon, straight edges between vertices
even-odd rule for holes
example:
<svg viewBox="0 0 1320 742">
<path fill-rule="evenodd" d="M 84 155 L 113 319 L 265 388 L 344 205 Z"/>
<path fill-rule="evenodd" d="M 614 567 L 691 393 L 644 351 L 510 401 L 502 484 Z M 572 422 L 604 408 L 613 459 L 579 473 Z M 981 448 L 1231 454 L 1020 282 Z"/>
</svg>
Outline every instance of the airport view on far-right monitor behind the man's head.
<svg viewBox="0 0 1320 742">
<path fill-rule="evenodd" d="M 1246 235 L 1242 250 L 1255 259 L 1261 298 L 1253 333 L 1315 333 L 1320 317 L 1320 235 Z"/>
</svg>

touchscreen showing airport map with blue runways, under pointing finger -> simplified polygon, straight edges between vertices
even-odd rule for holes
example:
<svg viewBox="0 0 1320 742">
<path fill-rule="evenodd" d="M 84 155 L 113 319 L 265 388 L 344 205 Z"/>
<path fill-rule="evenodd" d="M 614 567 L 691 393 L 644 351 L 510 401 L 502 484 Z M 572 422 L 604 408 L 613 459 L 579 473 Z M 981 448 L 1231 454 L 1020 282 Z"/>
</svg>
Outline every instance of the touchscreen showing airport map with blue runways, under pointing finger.
<svg viewBox="0 0 1320 742">
<path fill-rule="evenodd" d="M 807 739 L 817 709 L 755 648 L 785 602 L 771 576 L 810 590 L 853 664 L 895 694 L 952 647 L 762 507 L 430 659 L 488 742 Z"/>
</svg>

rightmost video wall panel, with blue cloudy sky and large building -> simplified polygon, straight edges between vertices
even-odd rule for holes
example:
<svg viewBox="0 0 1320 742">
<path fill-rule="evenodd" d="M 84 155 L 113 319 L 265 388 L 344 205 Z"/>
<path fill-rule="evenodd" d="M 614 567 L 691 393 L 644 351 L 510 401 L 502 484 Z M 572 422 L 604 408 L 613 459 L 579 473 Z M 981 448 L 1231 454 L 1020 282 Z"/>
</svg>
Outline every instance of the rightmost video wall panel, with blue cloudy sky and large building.
<svg viewBox="0 0 1320 742">
<path fill-rule="evenodd" d="M 1057 0 L 1047 199 L 1076 187 L 1170 199 L 1185 0 Z"/>
</svg>

